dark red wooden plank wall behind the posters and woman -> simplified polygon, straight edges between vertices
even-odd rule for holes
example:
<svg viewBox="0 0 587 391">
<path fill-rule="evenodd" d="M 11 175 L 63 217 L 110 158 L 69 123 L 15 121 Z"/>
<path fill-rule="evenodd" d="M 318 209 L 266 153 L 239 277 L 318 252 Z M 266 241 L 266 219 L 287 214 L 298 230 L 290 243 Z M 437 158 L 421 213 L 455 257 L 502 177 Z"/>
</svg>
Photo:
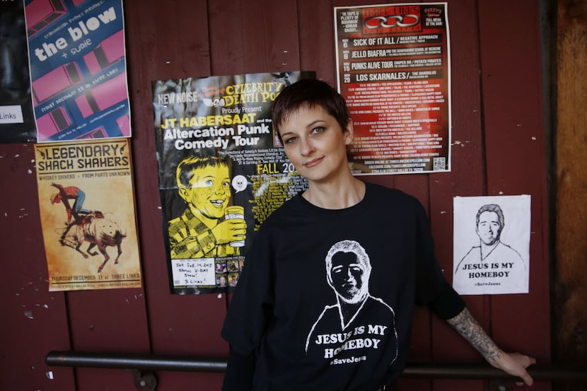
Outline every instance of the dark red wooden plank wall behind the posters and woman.
<svg viewBox="0 0 587 391">
<path fill-rule="evenodd" d="M 357 0 L 126 0 L 134 187 L 144 287 L 49 293 L 32 144 L 0 145 L 0 390 L 135 390 L 124 370 L 45 365 L 50 350 L 226 356 L 226 296 L 174 296 L 161 231 L 151 81 L 316 71 L 335 83 L 332 8 Z M 466 296 L 504 349 L 550 362 L 540 16 L 533 0 L 449 0 L 451 173 L 364 179 L 417 196 L 451 278 L 453 197 L 531 194 L 530 293 Z M 113 194 L 115 197 L 115 194 Z M 410 360 L 482 362 L 441 320 L 417 310 Z M 220 390 L 222 375 L 158 372 L 159 391 Z M 484 390 L 480 380 L 402 380 L 402 390 Z M 549 390 L 542 383 L 536 390 Z"/>
</svg>

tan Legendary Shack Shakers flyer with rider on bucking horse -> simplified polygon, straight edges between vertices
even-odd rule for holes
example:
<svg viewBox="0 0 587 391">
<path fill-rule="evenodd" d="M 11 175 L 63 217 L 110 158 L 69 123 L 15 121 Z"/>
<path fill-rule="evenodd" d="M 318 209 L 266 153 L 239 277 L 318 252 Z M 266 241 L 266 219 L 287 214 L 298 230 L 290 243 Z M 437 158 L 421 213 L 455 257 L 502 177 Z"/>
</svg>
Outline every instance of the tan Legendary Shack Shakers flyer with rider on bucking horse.
<svg viewBox="0 0 587 391">
<path fill-rule="evenodd" d="M 35 144 L 50 291 L 139 288 L 128 139 Z"/>
</svg>

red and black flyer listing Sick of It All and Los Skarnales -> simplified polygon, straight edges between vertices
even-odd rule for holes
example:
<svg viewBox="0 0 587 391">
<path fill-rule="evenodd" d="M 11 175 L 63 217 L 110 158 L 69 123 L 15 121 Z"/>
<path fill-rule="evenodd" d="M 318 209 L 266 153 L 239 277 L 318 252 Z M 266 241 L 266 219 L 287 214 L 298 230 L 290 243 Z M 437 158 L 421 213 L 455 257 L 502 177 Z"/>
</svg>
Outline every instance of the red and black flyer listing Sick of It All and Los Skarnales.
<svg viewBox="0 0 587 391">
<path fill-rule="evenodd" d="M 337 83 L 355 175 L 451 169 L 446 3 L 335 7 Z"/>
</svg>

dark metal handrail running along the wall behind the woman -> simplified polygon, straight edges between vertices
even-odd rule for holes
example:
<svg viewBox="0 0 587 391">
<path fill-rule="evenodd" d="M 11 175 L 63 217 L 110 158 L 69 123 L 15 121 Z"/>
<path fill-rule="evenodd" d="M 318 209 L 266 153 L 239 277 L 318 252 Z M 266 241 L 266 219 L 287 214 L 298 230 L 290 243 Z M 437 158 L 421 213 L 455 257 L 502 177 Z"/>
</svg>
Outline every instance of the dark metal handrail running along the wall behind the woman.
<svg viewBox="0 0 587 391">
<path fill-rule="evenodd" d="M 180 370 L 223 373 L 226 370 L 226 358 L 197 358 L 159 354 L 50 351 L 45 362 L 50 366 L 118 368 L 138 371 Z M 530 366 L 528 373 L 537 381 L 587 381 L 587 368 Z M 405 367 L 402 377 L 518 380 L 518 378 L 487 364 L 409 363 Z"/>
</svg>

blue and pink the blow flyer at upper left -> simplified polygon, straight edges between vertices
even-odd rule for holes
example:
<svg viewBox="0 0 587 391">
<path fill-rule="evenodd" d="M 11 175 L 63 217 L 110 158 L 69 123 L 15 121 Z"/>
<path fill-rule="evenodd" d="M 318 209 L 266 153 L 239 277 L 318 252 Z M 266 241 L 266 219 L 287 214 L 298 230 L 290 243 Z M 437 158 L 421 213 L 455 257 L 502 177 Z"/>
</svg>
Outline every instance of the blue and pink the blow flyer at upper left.
<svg viewBox="0 0 587 391">
<path fill-rule="evenodd" d="M 122 0 L 25 0 L 37 142 L 131 136 Z"/>
</svg>

